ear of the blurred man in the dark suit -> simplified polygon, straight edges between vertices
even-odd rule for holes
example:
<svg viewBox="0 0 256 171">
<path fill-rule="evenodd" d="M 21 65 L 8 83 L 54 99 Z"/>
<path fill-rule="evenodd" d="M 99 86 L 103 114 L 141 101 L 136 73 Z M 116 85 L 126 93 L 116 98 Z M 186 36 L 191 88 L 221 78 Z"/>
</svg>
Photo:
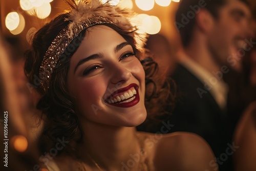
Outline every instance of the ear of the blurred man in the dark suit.
<svg viewBox="0 0 256 171">
<path fill-rule="evenodd" d="M 214 27 L 214 16 L 208 10 L 201 8 L 196 15 L 196 24 L 202 32 L 208 32 Z"/>
</svg>

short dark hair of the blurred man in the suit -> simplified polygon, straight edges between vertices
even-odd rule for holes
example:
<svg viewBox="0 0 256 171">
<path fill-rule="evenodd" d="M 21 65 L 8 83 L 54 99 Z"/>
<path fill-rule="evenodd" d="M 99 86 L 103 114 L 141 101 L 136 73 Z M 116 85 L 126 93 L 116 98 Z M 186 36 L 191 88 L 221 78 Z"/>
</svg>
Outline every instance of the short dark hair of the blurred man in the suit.
<svg viewBox="0 0 256 171">
<path fill-rule="evenodd" d="M 249 5 L 247 0 L 239 0 Z M 196 23 L 195 16 L 200 8 L 208 10 L 215 18 L 219 17 L 219 9 L 227 3 L 227 0 L 183 0 L 180 2 L 175 16 L 175 25 L 181 35 L 182 45 L 187 47 Z"/>
</svg>

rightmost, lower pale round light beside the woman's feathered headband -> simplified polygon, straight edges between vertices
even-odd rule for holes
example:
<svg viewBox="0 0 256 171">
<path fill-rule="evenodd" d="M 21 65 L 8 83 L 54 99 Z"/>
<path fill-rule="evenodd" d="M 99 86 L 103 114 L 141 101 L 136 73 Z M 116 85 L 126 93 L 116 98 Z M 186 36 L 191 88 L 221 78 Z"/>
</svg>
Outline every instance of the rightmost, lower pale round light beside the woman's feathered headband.
<svg viewBox="0 0 256 171">
<path fill-rule="evenodd" d="M 148 34 L 157 34 L 161 29 L 160 19 L 156 16 L 147 16 L 144 18 L 142 26 Z"/>
</svg>

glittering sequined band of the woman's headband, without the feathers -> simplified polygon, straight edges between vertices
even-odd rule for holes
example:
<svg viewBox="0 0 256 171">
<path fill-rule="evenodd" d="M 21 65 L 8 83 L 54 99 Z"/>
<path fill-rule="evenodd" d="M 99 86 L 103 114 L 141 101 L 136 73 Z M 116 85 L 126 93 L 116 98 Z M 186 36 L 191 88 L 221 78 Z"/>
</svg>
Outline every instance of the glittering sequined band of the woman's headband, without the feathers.
<svg viewBox="0 0 256 171">
<path fill-rule="evenodd" d="M 54 38 L 50 47 L 45 53 L 42 59 L 39 69 L 39 75 L 41 78 L 41 87 L 46 91 L 49 88 L 50 79 L 53 70 L 58 67 L 57 63 L 61 58 L 61 55 L 65 52 L 71 41 L 76 38 L 81 31 L 99 24 L 113 24 L 113 22 L 101 16 L 95 16 L 83 20 L 79 24 L 75 25 L 72 29 L 68 26 L 63 28 L 60 33 Z M 72 32 L 72 33 L 71 33 Z M 72 35 L 72 36 L 71 36 Z M 62 58 L 66 59 L 66 58 Z"/>
</svg>

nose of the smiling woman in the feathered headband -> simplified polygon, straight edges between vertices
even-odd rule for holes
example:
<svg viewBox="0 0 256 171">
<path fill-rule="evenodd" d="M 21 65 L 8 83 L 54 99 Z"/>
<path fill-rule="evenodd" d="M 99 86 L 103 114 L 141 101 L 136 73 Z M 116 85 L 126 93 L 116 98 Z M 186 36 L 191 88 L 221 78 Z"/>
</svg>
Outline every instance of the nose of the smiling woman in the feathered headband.
<svg viewBox="0 0 256 171">
<path fill-rule="evenodd" d="M 112 67 L 111 82 L 113 84 L 124 83 L 128 81 L 131 76 L 132 73 L 122 65 L 117 64 Z"/>
</svg>

